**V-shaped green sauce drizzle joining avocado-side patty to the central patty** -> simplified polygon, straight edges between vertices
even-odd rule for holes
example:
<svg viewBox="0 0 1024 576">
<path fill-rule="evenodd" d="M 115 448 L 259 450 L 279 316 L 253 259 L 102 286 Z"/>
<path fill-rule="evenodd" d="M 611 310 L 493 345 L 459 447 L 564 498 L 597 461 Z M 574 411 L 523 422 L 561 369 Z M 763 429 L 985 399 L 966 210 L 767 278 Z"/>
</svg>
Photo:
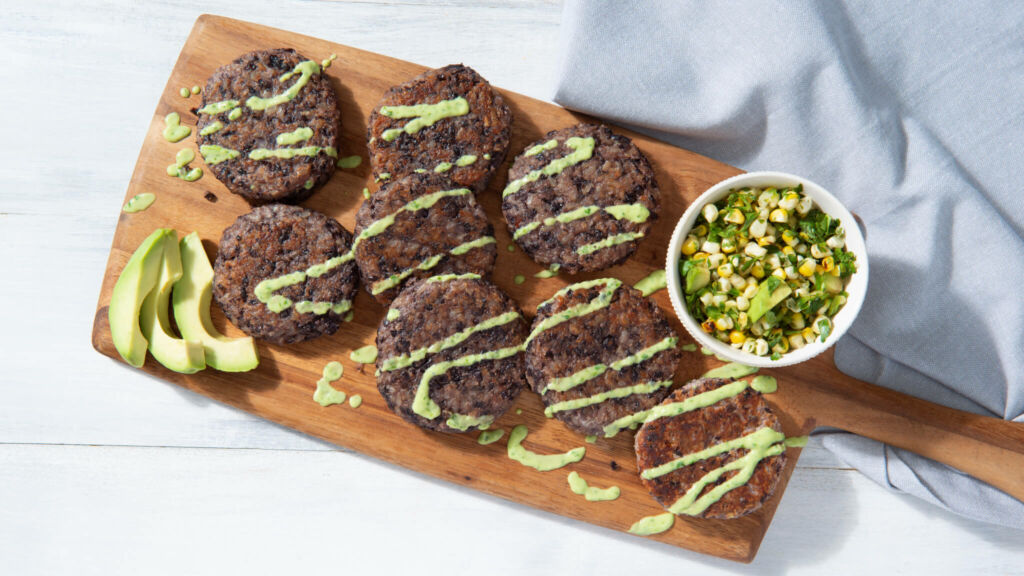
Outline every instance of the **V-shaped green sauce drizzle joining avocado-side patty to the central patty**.
<svg viewBox="0 0 1024 576">
<path fill-rule="evenodd" d="M 284 149 L 284 150 L 300 150 L 300 149 Z M 358 245 L 374 236 L 380 235 L 391 224 L 394 223 L 395 216 L 402 212 L 415 212 L 419 210 L 426 210 L 439 202 L 443 198 L 456 197 L 456 196 L 466 196 L 472 194 L 469 189 L 456 189 L 456 190 L 442 190 L 421 196 L 397 211 L 384 216 L 379 220 L 375 220 L 358 236 L 352 241 L 352 246 L 349 248 L 348 252 L 329 258 L 324 262 L 319 262 L 309 266 L 304 271 L 296 271 L 284 276 L 279 276 L 275 278 L 268 278 L 263 280 L 256 285 L 254 293 L 259 301 L 266 304 L 267 308 L 273 313 L 282 313 L 292 306 L 293 302 L 291 299 L 282 296 L 281 294 L 274 294 L 278 290 L 288 288 L 289 286 L 295 286 L 296 284 L 301 284 L 306 281 L 307 278 L 319 278 L 328 272 L 340 266 L 341 264 L 352 260 L 355 257 L 355 249 Z M 349 312 L 352 307 L 352 302 L 350 300 L 341 300 L 339 302 L 312 302 L 309 300 L 303 300 L 295 303 L 295 311 L 300 314 L 313 313 L 317 315 L 325 315 L 329 312 L 334 314 L 345 314 Z"/>
</svg>

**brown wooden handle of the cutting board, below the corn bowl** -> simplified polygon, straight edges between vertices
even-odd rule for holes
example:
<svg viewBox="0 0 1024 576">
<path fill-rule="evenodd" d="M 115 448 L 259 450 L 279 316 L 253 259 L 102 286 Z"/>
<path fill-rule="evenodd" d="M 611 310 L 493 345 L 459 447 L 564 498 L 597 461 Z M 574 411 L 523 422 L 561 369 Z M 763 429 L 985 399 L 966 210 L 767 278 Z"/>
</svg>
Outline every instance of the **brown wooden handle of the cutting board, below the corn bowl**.
<svg viewBox="0 0 1024 576">
<path fill-rule="evenodd" d="M 828 351 L 779 382 L 802 386 L 798 410 L 810 424 L 834 426 L 948 464 L 1024 501 L 1024 423 L 979 416 L 868 384 L 843 374 Z M 827 364 L 827 366 L 824 366 Z M 806 365 L 805 365 L 806 366 Z M 815 385 L 808 373 L 827 375 Z M 794 390 L 796 392 L 796 390 Z M 810 429 L 809 428 L 809 429 Z"/>
</svg>

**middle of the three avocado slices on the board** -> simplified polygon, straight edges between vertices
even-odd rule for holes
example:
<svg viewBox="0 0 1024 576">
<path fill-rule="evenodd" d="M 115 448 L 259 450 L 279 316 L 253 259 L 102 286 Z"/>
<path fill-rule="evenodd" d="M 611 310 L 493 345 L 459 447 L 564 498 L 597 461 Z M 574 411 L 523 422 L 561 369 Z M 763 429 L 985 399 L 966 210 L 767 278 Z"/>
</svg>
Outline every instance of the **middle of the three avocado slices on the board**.
<svg viewBox="0 0 1024 576">
<path fill-rule="evenodd" d="M 181 279 L 181 253 L 178 249 L 178 235 L 172 231 L 160 242 L 163 250 L 160 274 L 156 289 L 142 300 L 138 323 L 142 334 L 150 340 L 150 354 L 170 370 L 182 374 L 195 374 L 206 368 L 203 342 L 183 340 L 171 331 L 168 308 L 171 303 L 171 287 Z"/>
</svg>

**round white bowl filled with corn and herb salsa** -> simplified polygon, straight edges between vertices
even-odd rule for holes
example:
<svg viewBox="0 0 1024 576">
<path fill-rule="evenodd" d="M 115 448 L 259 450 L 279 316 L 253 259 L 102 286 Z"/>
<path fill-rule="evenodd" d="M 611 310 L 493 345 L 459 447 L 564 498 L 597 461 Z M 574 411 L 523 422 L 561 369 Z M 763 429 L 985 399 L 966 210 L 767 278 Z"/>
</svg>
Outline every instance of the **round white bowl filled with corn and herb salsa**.
<svg viewBox="0 0 1024 576">
<path fill-rule="evenodd" d="M 667 275 L 677 314 L 705 347 L 733 362 L 784 366 L 826 349 L 852 324 L 866 254 L 853 216 L 823 189 L 750 173 L 687 209 Z"/>
</svg>

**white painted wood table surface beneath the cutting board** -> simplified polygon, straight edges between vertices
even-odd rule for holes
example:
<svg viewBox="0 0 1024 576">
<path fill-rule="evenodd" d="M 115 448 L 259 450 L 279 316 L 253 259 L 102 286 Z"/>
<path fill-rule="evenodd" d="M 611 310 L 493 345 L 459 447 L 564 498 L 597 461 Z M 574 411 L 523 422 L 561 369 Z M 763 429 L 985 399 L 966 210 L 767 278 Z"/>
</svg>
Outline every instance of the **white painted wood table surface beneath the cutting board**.
<svg viewBox="0 0 1024 576">
<path fill-rule="evenodd" d="M 1022 533 L 886 492 L 813 440 L 748 567 L 349 454 L 93 352 L 122 195 L 204 11 L 552 90 L 556 2 L 5 1 L 0 574 L 1024 573 Z"/>
</svg>

